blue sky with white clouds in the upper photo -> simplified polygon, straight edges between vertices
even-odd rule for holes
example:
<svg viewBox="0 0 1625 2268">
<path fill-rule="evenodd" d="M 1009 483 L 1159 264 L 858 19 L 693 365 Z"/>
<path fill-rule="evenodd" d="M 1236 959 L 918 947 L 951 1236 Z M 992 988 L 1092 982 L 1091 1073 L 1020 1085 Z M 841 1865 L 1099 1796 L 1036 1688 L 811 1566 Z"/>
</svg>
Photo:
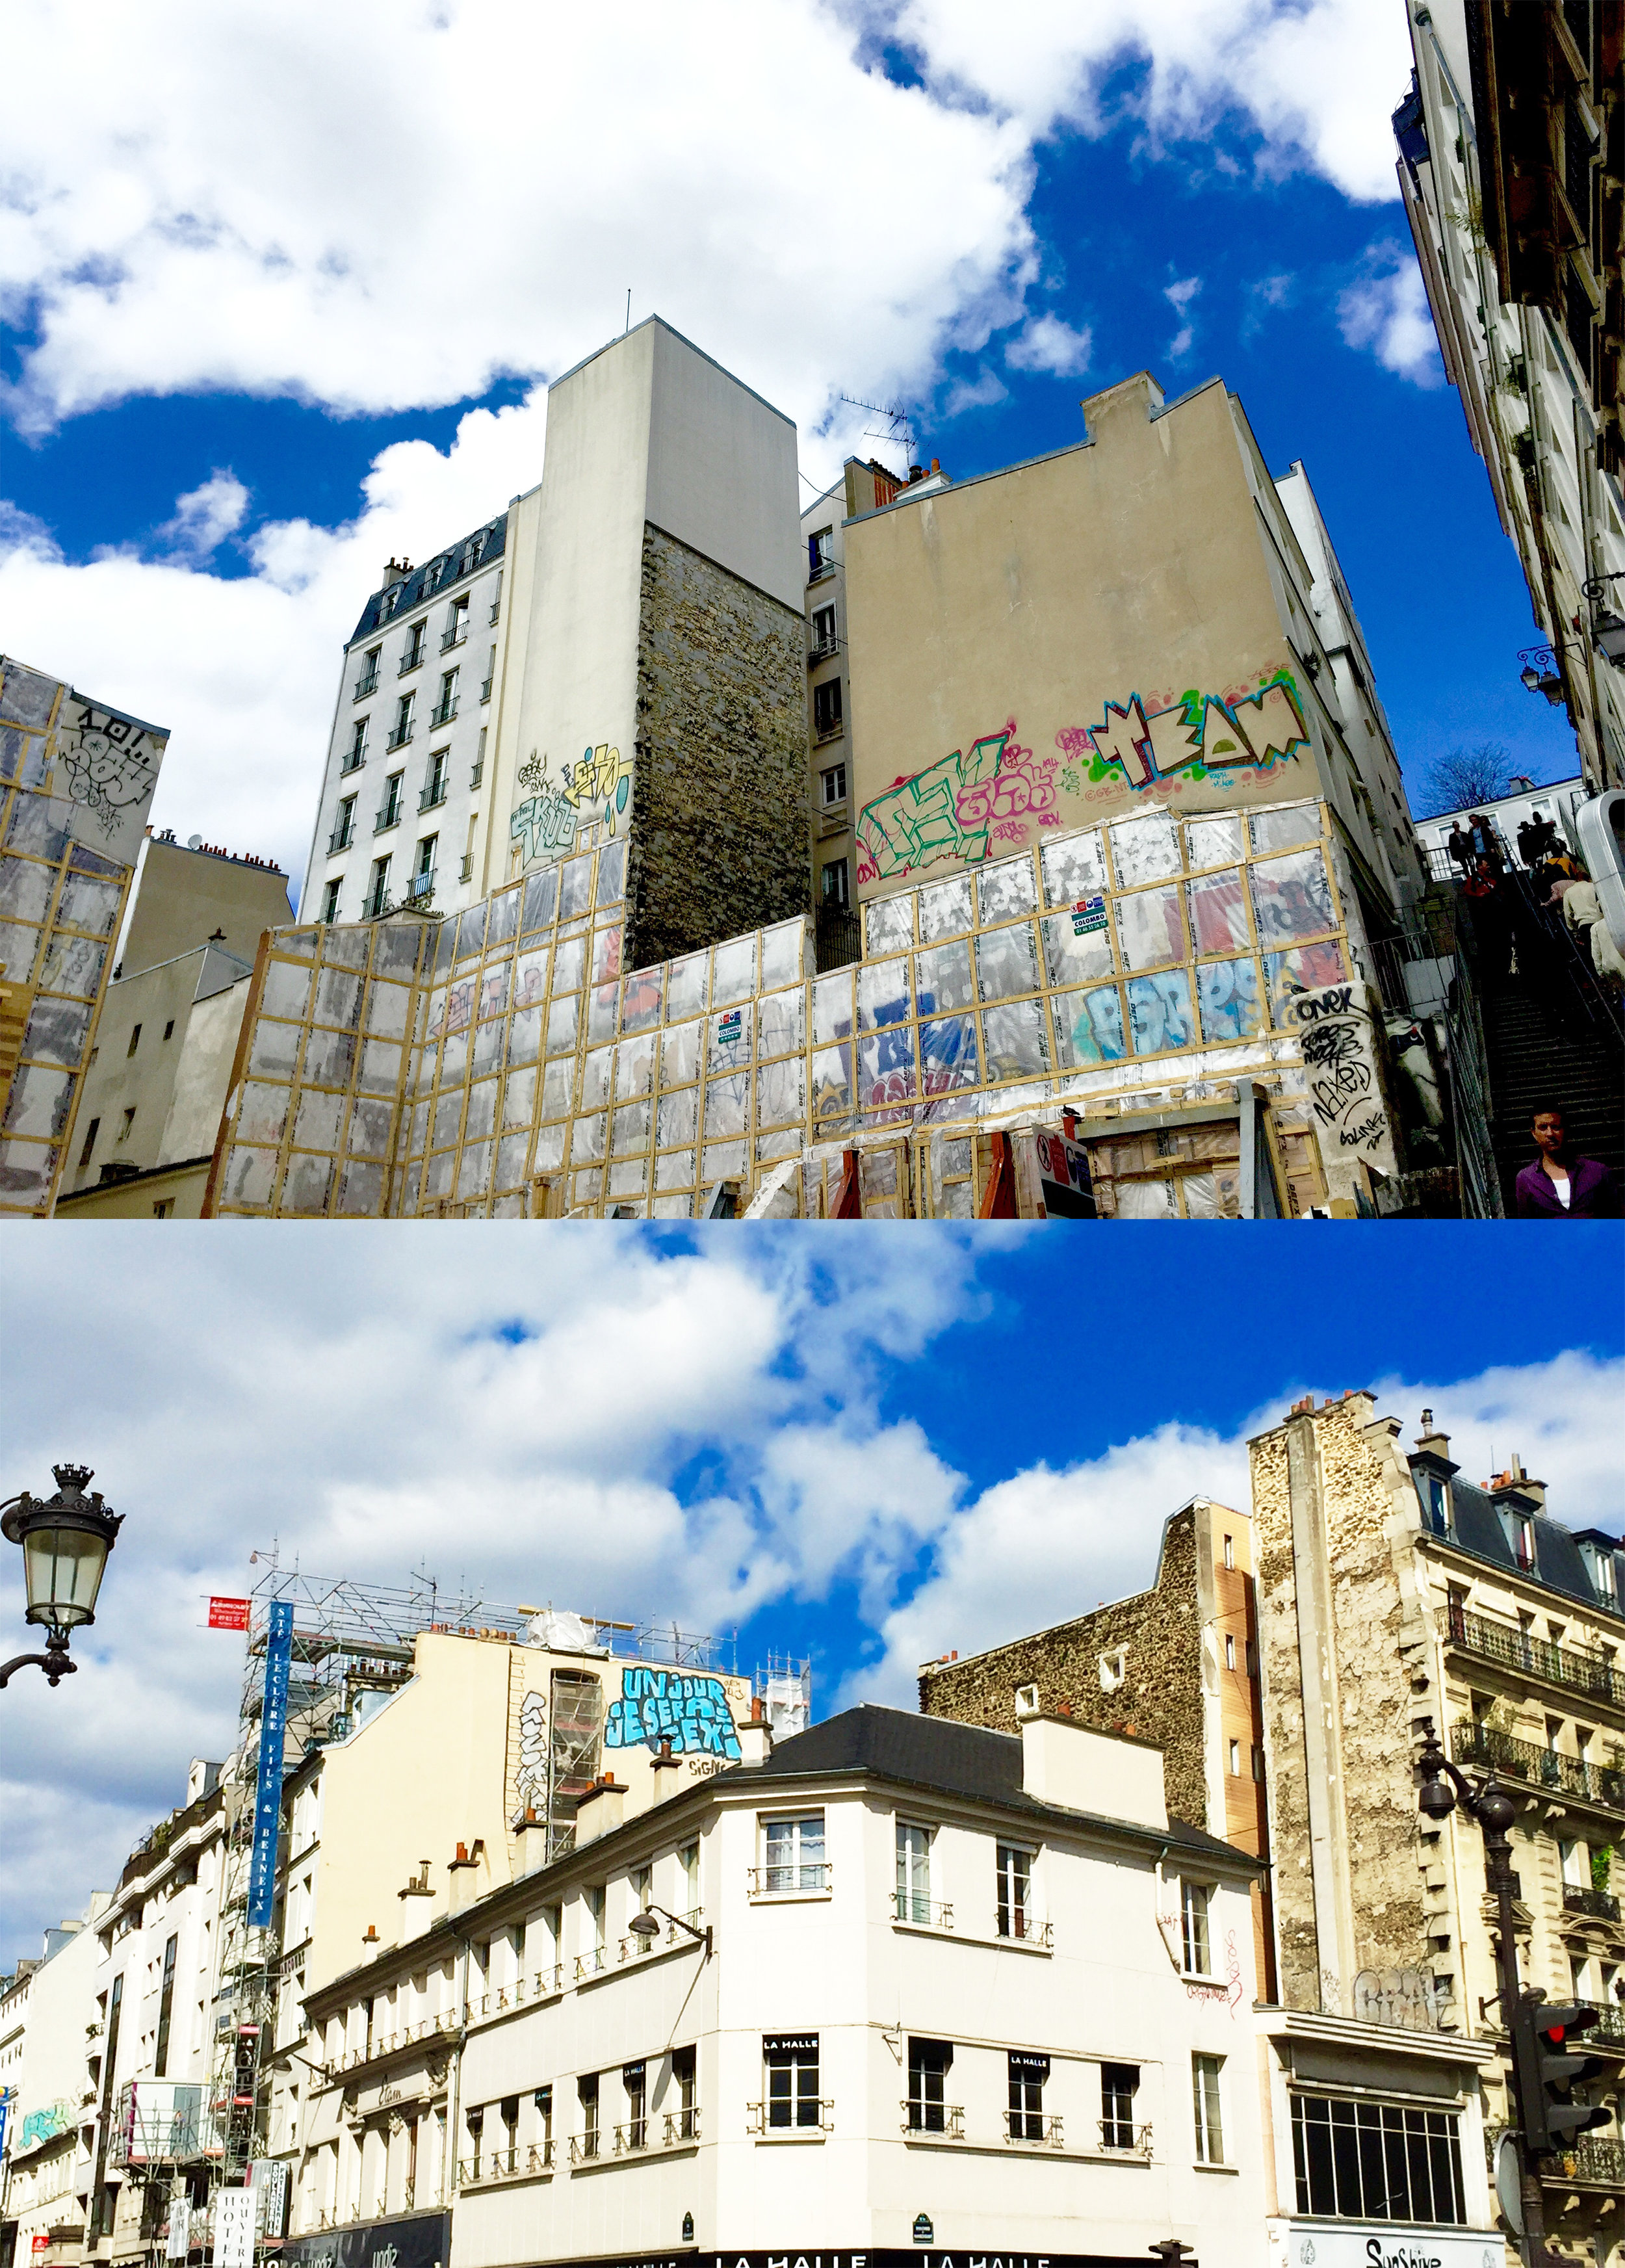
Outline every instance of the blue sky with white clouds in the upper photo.
<svg viewBox="0 0 1625 2268">
<path fill-rule="evenodd" d="M 20 136 L 0 599 L 18 651 L 175 728 L 161 823 L 304 862 L 385 553 L 530 485 L 539 388 L 628 286 L 798 417 L 814 481 L 875 447 L 843 392 L 975 474 L 1131 370 L 1224 374 L 1310 469 L 1412 789 L 1460 742 L 1575 769 L 1394 195 L 1398 0 L 773 0 L 748 36 L 705 0 L 689 43 L 639 11 L 641 73 L 512 0 L 401 36 L 378 0 L 156 16 L 107 11 L 109 93 L 75 98 L 107 120 Z M 57 11 L 20 23 L 66 75 Z M 542 113 L 503 138 L 490 75 L 528 41 Z"/>
</svg>

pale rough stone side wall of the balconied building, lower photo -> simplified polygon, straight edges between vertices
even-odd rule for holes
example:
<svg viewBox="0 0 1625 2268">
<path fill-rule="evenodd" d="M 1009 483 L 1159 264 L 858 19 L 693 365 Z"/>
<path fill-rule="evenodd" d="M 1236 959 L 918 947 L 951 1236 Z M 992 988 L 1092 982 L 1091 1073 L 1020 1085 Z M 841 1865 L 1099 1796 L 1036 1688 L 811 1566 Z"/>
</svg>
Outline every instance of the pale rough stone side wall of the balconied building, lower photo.
<svg viewBox="0 0 1625 2268">
<path fill-rule="evenodd" d="M 1369 1397 L 1353 1395 L 1294 1413 L 1251 1442 L 1281 1998 L 1287 2007 L 1333 2014 L 1351 2014 L 1353 1973 L 1426 1969 L 1430 1960 L 1410 1767 L 1414 1715 L 1428 1708 L 1412 1694 L 1426 1628 L 1401 1581 L 1396 1547 L 1405 1510 L 1394 1495 L 1389 1431 L 1371 1424 L 1369 1411 Z M 1296 1565 L 1292 1551 L 1292 1427 L 1308 1436 L 1299 1486 L 1305 1526 L 1319 1535 L 1319 1572 Z M 1315 1628 L 1310 1585 L 1330 1603 L 1324 1635 L 1330 1706 L 1319 1644 L 1305 1640 Z M 1339 1783 L 1328 1794 L 1342 1819 L 1344 1855 L 1337 1839 L 1312 1851 L 1305 1706 L 1326 1708 L 1324 1733 L 1339 1758 Z M 1312 1864 L 1328 1867 L 1333 1882 L 1346 1864 L 1337 1896 L 1349 1901 L 1351 1975 L 1342 1973 L 1337 1946 L 1319 1941 Z"/>
</svg>

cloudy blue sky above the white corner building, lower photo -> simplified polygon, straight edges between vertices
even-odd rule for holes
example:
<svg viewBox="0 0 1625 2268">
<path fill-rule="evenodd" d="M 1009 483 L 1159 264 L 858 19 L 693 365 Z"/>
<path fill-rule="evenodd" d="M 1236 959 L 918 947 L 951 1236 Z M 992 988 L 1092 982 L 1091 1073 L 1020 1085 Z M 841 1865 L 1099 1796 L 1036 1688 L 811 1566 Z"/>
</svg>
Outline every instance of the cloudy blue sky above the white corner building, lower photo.
<svg viewBox="0 0 1625 2268">
<path fill-rule="evenodd" d="M 1577 1526 L 1620 1524 L 1618 1238 L 1566 1232 L 1528 1295 L 1507 1229 L 954 1236 L 231 1225 L 161 1247 L 7 1241 L 9 1483 L 95 1467 L 125 1513 L 84 1669 L 7 1694 L 0 1964 L 107 1885 L 222 1755 L 240 1651 L 202 1628 L 249 1551 L 399 1585 L 714 1631 L 814 1660 L 818 1712 L 913 1706 L 922 1658 L 1142 1588 L 1194 1490 L 1247 1501 L 1247 1436 L 1369 1386 L 1432 1406 L 1473 1479 L 1518 1452 Z M 1081 1232 L 1079 1232 L 1081 1234 Z M 14 1560 L 16 1554 L 7 1554 Z M 0 1628 L 18 1569 L 0 1563 Z M 737 1633 L 737 1637 L 734 1637 Z"/>
</svg>

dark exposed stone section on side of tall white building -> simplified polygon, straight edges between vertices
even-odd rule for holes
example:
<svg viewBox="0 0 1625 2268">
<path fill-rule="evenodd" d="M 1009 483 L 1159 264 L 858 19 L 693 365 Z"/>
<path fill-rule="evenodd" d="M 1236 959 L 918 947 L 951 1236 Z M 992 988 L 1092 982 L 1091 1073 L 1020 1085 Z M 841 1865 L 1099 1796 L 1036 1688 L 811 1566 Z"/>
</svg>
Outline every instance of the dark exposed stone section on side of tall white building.
<svg viewBox="0 0 1625 2268">
<path fill-rule="evenodd" d="M 644 528 L 628 966 L 805 914 L 802 617 Z"/>
</svg>

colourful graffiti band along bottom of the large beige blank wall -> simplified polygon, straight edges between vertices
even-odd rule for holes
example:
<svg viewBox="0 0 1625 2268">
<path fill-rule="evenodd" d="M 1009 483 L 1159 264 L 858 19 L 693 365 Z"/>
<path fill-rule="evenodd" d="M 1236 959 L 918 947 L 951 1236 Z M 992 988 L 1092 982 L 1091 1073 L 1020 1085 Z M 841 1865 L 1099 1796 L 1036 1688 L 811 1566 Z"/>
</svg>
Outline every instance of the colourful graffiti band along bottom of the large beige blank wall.
<svg viewBox="0 0 1625 2268">
<path fill-rule="evenodd" d="M 1179 794 L 1206 782 L 1226 792 L 1244 773 L 1271 771 L 1305 746 L 1303 708 L 1285 669 L 1226 696 L 1106 701 L 1099 723 L 1056 733 L 1058 755 L 1022 748 L 1009 719 L 1002 733 L 972 742 L 970 753 L 954 748 L 863 805 L 857 878 L 922 873 L 943 860 L 975 866 L 997 855 L 997 844 L 1031 844 L 1040 828 L 1086 826 L 1088 805 L 1124 787 Z"/>
</svg>

